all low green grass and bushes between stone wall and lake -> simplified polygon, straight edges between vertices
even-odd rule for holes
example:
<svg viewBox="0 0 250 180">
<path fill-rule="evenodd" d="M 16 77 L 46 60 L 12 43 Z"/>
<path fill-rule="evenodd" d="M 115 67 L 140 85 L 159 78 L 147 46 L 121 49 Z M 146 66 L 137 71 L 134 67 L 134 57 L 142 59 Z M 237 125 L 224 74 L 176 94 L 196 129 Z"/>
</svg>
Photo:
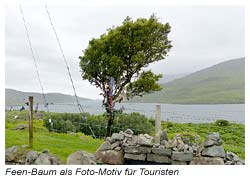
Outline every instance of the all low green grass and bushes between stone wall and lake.
<svg viewBox="0 0 250 180">
<path fill-rule="evenodd" d="M 34 147 L 33 149 L 42 152 L 44 149 L 49 149 L 50 153 L 60 159 L 60 162 L 65 164 L 68 156 L 76 150 L 83 150 L 89 153 L 94 153 L 98 147 L 103 143 L 105 134 L 106 119 L 105 115 L 88 115 L 88 125 L 91 124 L 96 135 L 102 137 L 101 139 L 94 139 L 91 137 L 89 129 L 86 124 L 81 124 L 79 127 L 77 120 L 81 119 L 79 114 L 65 113 L 51 113 L 52 122 L 60 120 L 61 122 L 70 122 L 67 131 L 60 128 L 56 131 L 50 129 L 48 126 L 48 116 L 46 113 L 38 112 L 34 114 Z M 64 119 L 61 118 L 64 116 Z M 5 144 L 6 148 L 14 145 L 28 144 L 28 112 L 27 111 L 8 111 L 6 112 L 5 121 Z M 63 124 L 63 123 L 62 123 Z M 119 126 L 117 124 L 120 124 Z M 73 126 L 72 126 L 73 125 Z M 82 125 L 82 126 L 81 126 Z M 85 126 L 84 126 L 85 125 Z M 63 126 L 61 126 L 63 127 Z M 115 133 L 126 131 L 127 128 L 133 130 L 134 135 L 149 134 L 154 136 L 154 121 L 146 118 L 143 115 L 120 114 L 117 116 Z M 134 130 L 137 129 L 138 131 Z M 166 130 L 169 139 L 173 139 L 176 134 L 182 138 L 186 143 L 190 141 L 204 142 L 206 136 L 210 132 L 218 132 L 223 140 L 223 147 L 225 151 L 234 152 L 240 158 L 245 158 L 245 126 L 244 124 L 230 123 L 225 120 L 215 121 L 214 123 L 174 123 L 162 122 L 162 130 Z"/>
</svg>

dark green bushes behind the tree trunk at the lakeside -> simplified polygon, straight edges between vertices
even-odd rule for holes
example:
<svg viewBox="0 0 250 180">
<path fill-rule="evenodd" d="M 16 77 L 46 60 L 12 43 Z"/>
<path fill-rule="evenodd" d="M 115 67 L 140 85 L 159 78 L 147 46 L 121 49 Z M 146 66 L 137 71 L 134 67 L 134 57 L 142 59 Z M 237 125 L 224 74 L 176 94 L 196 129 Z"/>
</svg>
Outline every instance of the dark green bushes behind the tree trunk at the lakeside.
<svg viewBox="0 0 250 180">
<path fill-rule="evenodd" d="M 80 114 L 74 113 L 50 113 L 43 116 L 44 126 L 49 131 L 65 133 L 67 131 L 82 132 L 86 135 L 104 137 L 106 135 L 107 115 L 90 115 L 85 114 L 86 119 Z M 51 119 L 51 123 L 49 122 Z M 112 132 L 125 131 L 132 129 L 135 134 L 151 134 L 154 130 L 154 120 L 145 117 L 139 113 L 116 114 Z"/>
</svg>

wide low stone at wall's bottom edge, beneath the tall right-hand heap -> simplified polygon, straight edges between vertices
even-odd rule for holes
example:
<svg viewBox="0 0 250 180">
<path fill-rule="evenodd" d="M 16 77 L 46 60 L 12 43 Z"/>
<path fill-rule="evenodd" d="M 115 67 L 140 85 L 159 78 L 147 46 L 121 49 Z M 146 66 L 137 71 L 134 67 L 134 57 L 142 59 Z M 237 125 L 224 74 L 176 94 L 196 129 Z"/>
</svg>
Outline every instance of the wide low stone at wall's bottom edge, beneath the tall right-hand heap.
<svg viewBox="0 0 250 180">
<path fill-rule="evenodd" d="M 194 157 L 190 165 L 224 165 L 224 161 L 219 157 Z"/>
</svg>

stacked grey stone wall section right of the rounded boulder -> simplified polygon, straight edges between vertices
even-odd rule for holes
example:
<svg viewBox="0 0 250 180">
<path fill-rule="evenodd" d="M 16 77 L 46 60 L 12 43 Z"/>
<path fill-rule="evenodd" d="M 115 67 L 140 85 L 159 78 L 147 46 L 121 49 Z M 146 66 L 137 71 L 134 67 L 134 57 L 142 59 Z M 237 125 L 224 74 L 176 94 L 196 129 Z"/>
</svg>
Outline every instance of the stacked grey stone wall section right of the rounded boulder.
<svg viewBox="0 0 250 180">
<path fill-rule="evenodd" d="M 207 135 L 204 143 L 184 142 L 180 135 L 168 140 L 166 132 L 152 137 L 134 135 L 128 129 L 108 137 L 95 153 L 97 164 L 243 165 L 232 152 L 225 152 L 219 133 Z"/>
</svg>

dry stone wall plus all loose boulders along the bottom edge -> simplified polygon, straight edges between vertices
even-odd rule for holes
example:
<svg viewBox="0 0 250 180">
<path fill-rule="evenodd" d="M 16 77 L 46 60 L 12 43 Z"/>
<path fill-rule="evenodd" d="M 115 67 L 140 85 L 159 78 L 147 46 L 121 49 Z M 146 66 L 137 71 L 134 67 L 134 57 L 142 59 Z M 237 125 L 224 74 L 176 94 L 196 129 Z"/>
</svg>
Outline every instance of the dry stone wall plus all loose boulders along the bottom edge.
<svg viewBox="0 0 250 180">
<path fill-rule="evenodd" d="M 198 139 L 198 138 L 197 138 Z M 233 152 L 225 152 L 219 133 L 210 133 L 203 143 L 191 143 L 176 135 L 169 140 L 162 131 L 152 137 L 148 134 L 134 135 L 128 129 L 113 133 L 106 138 L 95 154 L 76 151 L 67 159 L 69 165 L 95 164 L 168 164 L 168 165 L 243 165 Z M 27 145 L 12 146 L 5 150 L 6 164 L 58 165 L 60 161 L 49 154 L 29 151 Z"/>
</svg>

